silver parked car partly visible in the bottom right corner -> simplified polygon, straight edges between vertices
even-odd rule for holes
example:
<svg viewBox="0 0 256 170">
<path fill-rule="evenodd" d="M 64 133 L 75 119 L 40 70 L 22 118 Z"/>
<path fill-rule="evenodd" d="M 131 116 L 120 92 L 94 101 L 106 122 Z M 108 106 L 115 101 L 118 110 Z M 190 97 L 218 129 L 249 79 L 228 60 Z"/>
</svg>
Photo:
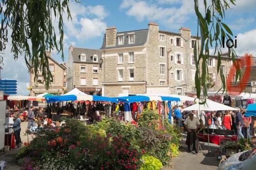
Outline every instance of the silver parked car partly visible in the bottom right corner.
<svg viewBox="0 0 256 170">
<path fill-rule="evenodd" d="M 229 157 L 218 170 L 252 170 L 256 169 L 256 148 L 240 152 Z"/>
</svg>

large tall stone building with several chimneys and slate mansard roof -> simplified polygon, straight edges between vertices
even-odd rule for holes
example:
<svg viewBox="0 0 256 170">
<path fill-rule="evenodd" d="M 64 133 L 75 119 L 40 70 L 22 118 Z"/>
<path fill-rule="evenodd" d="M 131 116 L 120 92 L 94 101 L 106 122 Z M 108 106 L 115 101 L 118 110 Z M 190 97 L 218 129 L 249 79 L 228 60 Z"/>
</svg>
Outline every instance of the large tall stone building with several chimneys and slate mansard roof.
<svg viewBox="0 0 256 170">
<path fill-rule="evenodd" d="M 195 90 L 195 42 L 200 37 L 191 35 L 188 28 L 179 33 L 159 30 L 156 23 L 147 29 L 117 32 L 106 29 L 102 53 L 102 95 L 122 93 L 175 93 Z M 222 57 L 221 66 L 228 74 L 231 59 Z M 221 88 L 217 74 L 217 57 L 208 60 L 209 74 L 215 81 L 212 90 Z"/>
</svg>

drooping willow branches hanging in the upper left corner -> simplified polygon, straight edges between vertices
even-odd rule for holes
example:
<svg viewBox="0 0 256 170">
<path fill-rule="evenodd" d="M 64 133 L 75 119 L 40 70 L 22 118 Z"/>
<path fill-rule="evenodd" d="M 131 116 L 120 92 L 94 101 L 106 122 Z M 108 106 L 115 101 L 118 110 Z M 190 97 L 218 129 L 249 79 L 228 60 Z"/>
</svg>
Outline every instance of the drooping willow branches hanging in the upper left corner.
<svg viewBox="0 0 256 170">
<path fill-rule="evenodd" d="M 38 81 L 41 71 L 46 89 L 53 79 L 46 52 L 55 48 L 64 59 L 62 16 L 67 12 L 68 18 L 71 18 L 68 5 L 69 0 L 2 0 L 0 3 L 0 53 L 4 53 L 11 37 L 14 59 L 25 57 L 29 70 L 34 69 L 34 81 Z M 59 35 L 55 33 L 55 19 L 58 20 Z"/>
</svg>

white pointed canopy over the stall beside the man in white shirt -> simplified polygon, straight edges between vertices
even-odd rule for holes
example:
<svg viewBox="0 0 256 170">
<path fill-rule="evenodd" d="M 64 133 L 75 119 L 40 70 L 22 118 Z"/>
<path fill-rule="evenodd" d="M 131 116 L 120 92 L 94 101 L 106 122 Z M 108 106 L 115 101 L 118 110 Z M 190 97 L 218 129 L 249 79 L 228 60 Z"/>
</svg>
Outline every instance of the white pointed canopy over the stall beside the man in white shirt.
<svg viewBox="0 0 256 170">
<path fill-rule="evenodd" d="M 211 100 L 207 100 L 204 105 L 199 105 L 199 103 L 189 106 L 184 110 L 204 110 L 204 111 L 218 111 L 218 110 L 238 110 Z"/>
</svg>

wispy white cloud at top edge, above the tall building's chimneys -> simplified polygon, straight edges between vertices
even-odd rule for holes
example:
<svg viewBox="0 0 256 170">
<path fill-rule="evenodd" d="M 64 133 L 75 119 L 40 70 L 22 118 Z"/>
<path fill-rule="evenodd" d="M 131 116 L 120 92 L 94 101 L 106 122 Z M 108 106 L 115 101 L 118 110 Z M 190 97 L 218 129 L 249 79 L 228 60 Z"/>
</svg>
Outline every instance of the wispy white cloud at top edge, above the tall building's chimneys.
<svg viewBox="0 0 256 170">
<path fill-rule="evenodd" d="M 165 0 L 159 3 L 173 4 L 177 2 Z M 194 13 L 194 2 L 182 0 L 180 4 L 179 7 L 169 6 L 168 8 L 163 8 L 158 4 L 151 4 L 146 1 L 124 0 L 120 8 L 126 9 L 126 14 L 135 17 L 138 21 L 144 19 L 154 20 L 166 26 L 172 26 L 172 28 L 180 28 Z"/>
</svg>

